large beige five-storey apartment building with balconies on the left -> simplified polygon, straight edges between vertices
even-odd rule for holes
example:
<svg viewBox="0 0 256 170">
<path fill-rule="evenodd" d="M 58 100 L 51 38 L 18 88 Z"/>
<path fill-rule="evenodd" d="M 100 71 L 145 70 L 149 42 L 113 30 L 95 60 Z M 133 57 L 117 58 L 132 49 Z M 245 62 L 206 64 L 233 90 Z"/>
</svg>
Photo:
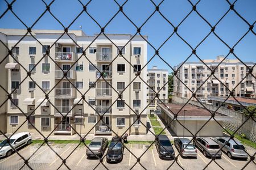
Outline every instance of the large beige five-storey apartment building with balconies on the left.
<svg viewBox="0 0 256 170">
<path fill-rule="evenodd" d="M 11 49 L 27 30 L 0 29 L 0 32 L 1 40 Z M 141 114 L 140 120 L 134 113 L 141 113 L 147 105 L 146 84 L 136 78 L 127 87 L 137 75 L 137 70 L 141 71 L 143 79 L 147 78 L 147 68 L 141 70 L 147 60 L 146 41 L 141 36 L 129 41 L 132 37 L 129 34 L 107 34 L 120 50 L 128 42 L 122 54 L 130 65 L 118 55 L 119 49 L 104 35 L 96 39 L 98 35 L 87 36 L 82 31 L 68 31 L 75 43 L 66 34 L 57 40 L 62 33 L 60 30 L 34 30 L 32 34 L 44 48 L 28 34 L 13 50 L 13 57 L 20 65 L 10 56 L 1 63 L 1 73 L 6 75 L 1 74 L 0 82 L 9 93 L 13 91 L 13 103 L 24 114 L 34 112 L 30 121 L 40 133 L 46 135 L 51 131 L 52 134 L 72 135 L 75 130 L 80 133 L 81 126 L 81 133 L 114 135 L 115 131 L 119 135 L 146 134 L 146 128 L 142 126 L 142 122 L 146 125 L 146 111 Z M 81 57 L 82 49 L 76 44 L 86 49 L 86 57 Z M 43 57 L 49 46 L 52 46 L 50 57 Z M 7 50 L 1 46 L 1 60 L 6 54 Z M 96 67 L 100 71 L 105 70 L 105 73 L 101 74 Z M 64 74 L 62 70 L 69 71 Z M 26 78 L 27 71 L 30 71 L 36 84 L 30 77 Z M 65 75 L 67 78 L 63 78 Z M 49 100 L 44 99 L 44 92 L 49 93 Z M 86 102 L 81 100 L 82 94 L 85 94 Z M 118 98 L 119 94 L 122 100 Z M 7 94 L 1 90 L 1 102 L 6 99 Z M 6 126 L 7 133 L 13 133 L 16 129 L 38 133 L 13 103 L 8 100 L 1 107 L 1 112 L 6 111 L 5 116 L 0 113 L 1 126 Z M 66 117 L 63 118 L 61 114 Z M 98 114 L 104 114 L 102 120 Z"/>
</svg>

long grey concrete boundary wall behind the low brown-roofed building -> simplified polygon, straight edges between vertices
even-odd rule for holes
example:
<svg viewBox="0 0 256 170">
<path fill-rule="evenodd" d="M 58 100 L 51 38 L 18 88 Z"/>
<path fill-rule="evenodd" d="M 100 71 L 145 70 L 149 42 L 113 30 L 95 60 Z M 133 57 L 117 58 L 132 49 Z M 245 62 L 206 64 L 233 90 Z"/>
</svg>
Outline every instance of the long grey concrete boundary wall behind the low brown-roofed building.
<svg viewBox="0 0 256 170">
<path fill-rule="evenodd" d="M 183 97 L 173 96 L 172 102 L 174 103 L 186 103 L 188 99 Z M 190 104 L 196 105 L 198 107 L 203 107 L 201 103 L 195 100 L 190 100 Z M 204 106 L 209 109 L 210 111 L 216 111 L 218 107 L 210 104 L 205 104 Z M 242 124 L 247 120 L 248 117 L 244 116 L 241 112 L 232 111 L 226 109 L 224 107 L 220 107 L 218 109 L 218 113 L 226 114 L 228 116 L 234 117 L 232 121 L 224 121 L 223 126 L 224 128 L 232 131 L 236 131 Z M 238 134 L 246 134 L 246 138 L 250 139 L 250 141 L 256 142 L 256 123 L 249 118 L 245 124 L 237 131 Z"/>
</svg>

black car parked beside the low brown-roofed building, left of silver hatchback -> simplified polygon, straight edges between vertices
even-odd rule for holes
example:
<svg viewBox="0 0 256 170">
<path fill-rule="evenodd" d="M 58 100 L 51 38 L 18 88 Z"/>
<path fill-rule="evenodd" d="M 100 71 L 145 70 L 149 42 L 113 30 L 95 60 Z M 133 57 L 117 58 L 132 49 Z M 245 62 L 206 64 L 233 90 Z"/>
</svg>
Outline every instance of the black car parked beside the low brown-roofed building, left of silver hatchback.
<svg viewBox="0 0 256 170">
<path fill-rule="evenodd" d="M 159 135 L 155 143 L 156 150 L 160 158 L 174 159 L 175 153 L 172 144 L 167 135 Z"/>
</svg>

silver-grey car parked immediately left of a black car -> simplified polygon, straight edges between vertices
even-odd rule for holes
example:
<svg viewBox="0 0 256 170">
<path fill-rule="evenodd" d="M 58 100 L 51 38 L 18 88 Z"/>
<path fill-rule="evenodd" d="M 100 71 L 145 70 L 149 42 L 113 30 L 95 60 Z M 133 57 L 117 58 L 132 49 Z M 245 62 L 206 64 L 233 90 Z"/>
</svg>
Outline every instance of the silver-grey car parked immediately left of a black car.
<svg viewBox="0 0 256 170">
<path fill-rule="evenodd" d="M 86 155 L 88 157 L 94 157 L 94 156 L 102 156 L 104 155 L 104 152 L 106 150 L 106 147 L 108 147 L 109 141 L 108 138 L 103 137 L 96 137 L 92 139 L 92 142 L 90 142 L 89 148 L 86 149 Z"/>
</svg>

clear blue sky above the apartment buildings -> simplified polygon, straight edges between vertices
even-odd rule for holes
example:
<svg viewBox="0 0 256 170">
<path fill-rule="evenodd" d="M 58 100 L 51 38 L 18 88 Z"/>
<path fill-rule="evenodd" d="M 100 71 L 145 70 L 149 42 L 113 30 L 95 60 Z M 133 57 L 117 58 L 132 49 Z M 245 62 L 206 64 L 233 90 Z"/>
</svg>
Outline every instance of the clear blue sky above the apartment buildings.
<svg viewBox="0 0 256 170">
<path fill-rule="evenodd" d="M 10 2 L 10 1 L 9 1 Z M 46 1 L 49 3 L 51 1 Z M 82 1 L 87 3 L 88 1 Z M 119 4 L 124 1 L 118 1 Z M 158 4 L 160 1 L 154 1 Z M 197 1 L 192 1 L 196 3 Z M 233 3 L 233 1 L 230 1 Z M 256 1 L 243 0 L 237 1 L 234 8 L 250 23 L 253 24 L 256 20 Z M 4 1 L 0 2 L 0 13 L 5 11 L 7 5 Z M 18 15 L 24 23 L 30 27 L 32 23 L 42 14 L 45 5 L 41 0 L 17 0 L 13 5 L 13 11 Z M 88 12 L 94 19 L 105 25 L 117 12 L 119 7 L 113 0 L 93 0 L 88 5 Z M 191 11 L 192 6 L 185 0 L 166 0 L 160 5 L 159 10 L 172 24 L 178 25 L 181 20 Z M 212 25 L 225 14 L 229 9 L 229 4 L 225 0 L 202 0 L 196 7 L 197 11 L 204 16 L 205 19 Z M 56 0 L 51 5 L 52 13 L 67 27 L 72 20 L 81 12 L 82 6 L 76 0 Z M 133 22 L 141 26 L 142 23 L 154 12 L 155 7 L 149 0 L 129 0 L 123 11 Z M 85 12 L 76 20 L 71 26 L 71 29 L 79 29 L 82 25 L 82 30 L 87 35 L 99 33 L 100 28 L 92 19 L 89 18 Z M 25 28 L 22 23 L 9 11 L 3 18 L 0 19 L 1 28 Z M 59 23 L 47 12 L 42 19 L 36 23 L 35 29 L 63 29 Z M 230 11 L 228 15 L 217 25 L 215 32 L 220 36 L 229 46 L 233 46 L 248 30 L 249 26 L 239 18 L 234 11 Z M 256 25 L 254 25 L 254 32 L 256 32 Z M 133 24 L 125 18 L 122 13 L 119 13 L 110 24 L 105 28 L 106 33 L 131 33 L 134 35 L 137 29 Z M 156 12 L 151 19 L 142 27 L 142 35 L 148 36 L 148 41 L 158 48 L 171 35 L 173 28 Z M 185 39 L 193 48 L 210 32 L 210 27 L 203 19 L 196 14 L 195 11 L 179 26 L 177 32 L 183 39 Z M 256 62 L 256 36 L 249 32 L 244 39 L 234 48 L 234 53 L 245 62 Z M 217 39 L 213 33 L 197 48 L 197 54 L 202 59 L 216 58 L 218 55 L 226 55 L 229 49 Z M 151 58 L 155 51 L 148 45 L 148 56 Z M 170 40 L 159 50 L 159 54 L 168 64 L 175 66 L 183 62 L 189 54 L 191 49 L 185 44 L 177 35 L 171 37 Z M 234 56 L 228 58 L 233 59 Z M 198 61 L 195 56 L 189 58 L 188 61 Z M 168 69 L 171 68 L 166 65 L 159 57 L 155 57 L 149 64 L 148 68 L 152 66 Z"/>
</svg>

